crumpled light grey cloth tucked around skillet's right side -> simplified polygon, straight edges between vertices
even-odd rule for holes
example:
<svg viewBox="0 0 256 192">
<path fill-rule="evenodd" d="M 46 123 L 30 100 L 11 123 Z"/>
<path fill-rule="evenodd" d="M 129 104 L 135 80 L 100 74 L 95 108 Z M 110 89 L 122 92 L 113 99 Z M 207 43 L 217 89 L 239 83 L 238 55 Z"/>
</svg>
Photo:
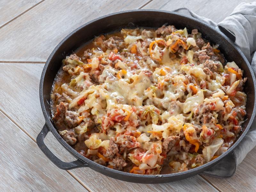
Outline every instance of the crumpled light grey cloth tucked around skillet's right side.
<svg viewBox="0 0 256 192">
<path fill-rule="evenodd" d="M 213 27 L 221 26 L 235 34 L 235 44 L 241 49 L 248 61 L 251 62 L 253 72 L 256 74 L 256 2 L 240 3 L 227 18 L 218 24 L 210 19 L 198 16 L 186 8 L 180 8 L 174 11 L 203 20 Z M 233 176 L 236 172 L 237 165 L 243 161 L 247 153 L 255 146 L 256 119 L 253 120 L 250 130 L 232 153 L 228 154 L 218 164 L 202 174 L 222 178 Z"/>
</svg>

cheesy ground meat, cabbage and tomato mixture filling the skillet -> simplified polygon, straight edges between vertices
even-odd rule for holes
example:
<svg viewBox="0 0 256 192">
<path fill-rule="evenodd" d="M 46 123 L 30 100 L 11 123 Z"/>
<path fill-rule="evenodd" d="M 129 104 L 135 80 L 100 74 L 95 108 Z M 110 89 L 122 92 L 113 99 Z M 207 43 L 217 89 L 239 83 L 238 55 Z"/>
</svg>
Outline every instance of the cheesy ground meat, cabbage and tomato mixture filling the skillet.
<svg viewBox="0 0 256 192">
<path fill-rule="evenodd" d="M 87 49 L 88 48 L 88 49 Z M 246 78 L 197 29 L 122 29 L 63 60 L 53 120 L 81 155 L 137 174 L 182 172 L 241 132 Z"/>
</svg>

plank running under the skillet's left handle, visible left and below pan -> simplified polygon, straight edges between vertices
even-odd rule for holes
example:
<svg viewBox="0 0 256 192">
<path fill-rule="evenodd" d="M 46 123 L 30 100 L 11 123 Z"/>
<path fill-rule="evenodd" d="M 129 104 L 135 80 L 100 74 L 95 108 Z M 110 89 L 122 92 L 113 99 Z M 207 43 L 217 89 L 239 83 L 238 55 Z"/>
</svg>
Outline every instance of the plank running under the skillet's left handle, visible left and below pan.
<svg viewBox="0 0 256 192">
<path fill-rule="evenodd" d="M 0 108 L 33 138 L 42 129 L 44 117 L 39 103 L 38 87 L 43 64 L 6 63 L 0 65 Z M 12 74 L 10 76 L 10 74 Z M 22 82 L 22 83 L 20 83 Z M 8 86 L 6 86 L 8 84 Z M 46 142 L 58 156 L 71 156 L 48 134 Z M 55 149 L 54 149 L 55 148 Z M 46 158 L 46 157 L 44 157 Z M 57 169 L 57 167 L 56 167 Z M 71 170 L 92 191 L 216 191 L 200 176 L 166 184 L 136 184 L 106 177 L 89 168 Z M 89 175 L 89 176 L 88 176 Z"/>
</svg>

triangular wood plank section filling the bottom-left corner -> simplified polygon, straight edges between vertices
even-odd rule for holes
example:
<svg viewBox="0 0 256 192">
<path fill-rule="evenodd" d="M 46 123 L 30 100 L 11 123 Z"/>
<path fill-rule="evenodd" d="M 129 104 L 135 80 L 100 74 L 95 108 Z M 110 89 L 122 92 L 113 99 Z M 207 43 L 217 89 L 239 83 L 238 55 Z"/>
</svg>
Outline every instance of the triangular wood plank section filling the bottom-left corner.
<svg viewBox="0 0 256 192">
<path fill-rule="evenodd" d="M 35 141 L 0 112 L 1 191 L 85 191 L 68 172 L 56 169 Z"/>
</svg>

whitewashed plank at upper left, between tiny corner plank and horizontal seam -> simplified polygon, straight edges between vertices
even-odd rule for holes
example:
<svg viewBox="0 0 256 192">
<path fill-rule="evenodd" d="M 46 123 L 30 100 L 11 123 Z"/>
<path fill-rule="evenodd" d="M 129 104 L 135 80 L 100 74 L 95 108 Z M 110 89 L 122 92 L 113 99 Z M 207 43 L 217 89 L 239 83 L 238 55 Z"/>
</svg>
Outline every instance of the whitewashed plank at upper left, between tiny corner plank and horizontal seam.
<svg viewBox="0 0 256 192">
<path fill-rule="evenodd" d="M 46 61 L 71 31 L 108 13 L 136 9 L 141 1 L 45 0 L 0 29 L 1 61 Z"/>
</svg>

